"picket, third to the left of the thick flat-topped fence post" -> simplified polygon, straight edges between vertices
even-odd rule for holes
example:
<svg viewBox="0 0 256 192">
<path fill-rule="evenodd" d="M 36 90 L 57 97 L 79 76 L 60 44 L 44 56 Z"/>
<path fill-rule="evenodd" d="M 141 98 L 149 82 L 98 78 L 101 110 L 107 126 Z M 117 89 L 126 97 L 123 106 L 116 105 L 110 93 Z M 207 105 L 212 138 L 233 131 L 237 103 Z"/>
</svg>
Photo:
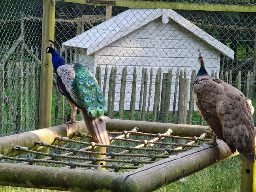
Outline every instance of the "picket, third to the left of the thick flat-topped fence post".
<svg viewBox="0 0 256 192">
<path fill-rule="evenodd" d="M 168 76 L 168 73 L 163 73 L 159 122 L 164 122 L 164 111 L 165 111 L 165 108 L 167 107 L 166 106 L 167 76 Z"/>
</svg>

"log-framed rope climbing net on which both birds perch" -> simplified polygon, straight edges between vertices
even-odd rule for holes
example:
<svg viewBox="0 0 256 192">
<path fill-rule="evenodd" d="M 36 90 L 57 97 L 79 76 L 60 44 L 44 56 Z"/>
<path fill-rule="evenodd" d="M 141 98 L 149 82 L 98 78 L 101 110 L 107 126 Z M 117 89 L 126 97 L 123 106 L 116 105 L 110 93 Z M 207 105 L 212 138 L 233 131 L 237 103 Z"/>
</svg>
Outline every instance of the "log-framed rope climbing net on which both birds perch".
<svg viewBox="0 0 256 192">
<path fill-rule="evenodd" d="M 111 123 L 113 125 L 111 121 L 112 119 L 107 121 L 109 131 L 114 127 L 111 128 Z M 139 126 L 132 131 L 108 132 L 112 136 L 109 137 L 111 145 L 101 145 L 90 142 L 92 137 L 88 136 L 84 125 L 79 128 L 79 123 L 75 126 L 69 125 L 68 132 L 64 129 L 67 125 L 62 125 L 46 128 L 44 132 L 36 130 L 6 138 L 1 137 L 0 142 L 2 139 L 5 142 L 1 143 L 11 143 L 12 149 L 9 152 L 0 150 L 2 153 L 0 185 L 66 191 L 86 189 L 87 191 L 146 192 L 156 190 L 233 156 L 229 147 L 221 140 L 218 141 L 217 146 L 202 145 L 204 141 L 210 141 L 205 138 L 206 126 L 203 126 L 205 130 L 203 134 L 196 134 L 194 137 L 189 134 L 188 137 L 179 136 L 180 134 L 175 136 L 173 130 L 180 129 L 175 127 L 177 124 L 158 123 L 159 127 L 169 126 L 169 128 L 165 127 L 165 132 L 157 134 L 139 132 L 143 130 L 142 126 Z M 141 123 L 143 122 L 138 124 Z M 148 123 L 151 124 L 145 122 Z M 65 131 L 57 133 L 57 127 L 58 130 L 62 127 Z M 74 132 L 71 133 L 70 130 Z M 41 138 L 50 134 L 55 134 L 55 137 L 53 141 L 49 139 L 33 141 L 26 138 L 27 144 L 20 142 L 24 145 L 13 146 L 14 143 L 22 141 L 21 137 L 39 135 L 38 131 Z M 175 143 L 175 139 L 186 139 L 186 143 Z M 38 151 L 45 147 L 50 148 L 49 153 Z M 104 148 L 106 152 L 98 152 L 97 148 Z M 17 154 L 24 156 L 24 153 L 26 158 L 17 156 Z M 34 158 L 36 155 L 44 158 L 36 159 Z"/>
</svg>

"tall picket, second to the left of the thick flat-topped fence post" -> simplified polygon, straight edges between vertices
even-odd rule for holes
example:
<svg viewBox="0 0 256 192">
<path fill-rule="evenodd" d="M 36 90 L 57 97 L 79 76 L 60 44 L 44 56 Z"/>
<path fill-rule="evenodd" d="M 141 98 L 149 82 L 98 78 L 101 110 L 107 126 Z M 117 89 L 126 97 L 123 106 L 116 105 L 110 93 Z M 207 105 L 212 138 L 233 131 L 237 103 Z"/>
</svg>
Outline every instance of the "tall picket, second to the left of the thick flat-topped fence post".
<svg viewBox="0 0 256 192">
<path fill-rule="evenodd" d="M 172 71 L 169 69 L 167 74 L 167 84 L 166 84 L 166 106 L 164 110 L 164 122 L 169 122 L 169 109 L 171 102 L 171 79 L 172 79 Z"/>
</svg>

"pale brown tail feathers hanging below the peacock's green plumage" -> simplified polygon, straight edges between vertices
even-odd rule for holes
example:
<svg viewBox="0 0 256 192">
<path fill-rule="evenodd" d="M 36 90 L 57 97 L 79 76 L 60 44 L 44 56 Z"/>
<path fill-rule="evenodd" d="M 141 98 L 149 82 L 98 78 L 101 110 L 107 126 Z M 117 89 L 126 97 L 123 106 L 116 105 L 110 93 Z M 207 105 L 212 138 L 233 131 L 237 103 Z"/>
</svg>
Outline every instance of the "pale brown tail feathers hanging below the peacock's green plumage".
<svg viewBox="0 0 256 192">
<path fill-rule="evenodd" d="M 109 145 L 109 136 L 107 135 L 106 123 L 103 116 L 88 117 L 87 111 L 82 110 L 85 125 L 92 138 L 100 144 Z"/>
</svg>

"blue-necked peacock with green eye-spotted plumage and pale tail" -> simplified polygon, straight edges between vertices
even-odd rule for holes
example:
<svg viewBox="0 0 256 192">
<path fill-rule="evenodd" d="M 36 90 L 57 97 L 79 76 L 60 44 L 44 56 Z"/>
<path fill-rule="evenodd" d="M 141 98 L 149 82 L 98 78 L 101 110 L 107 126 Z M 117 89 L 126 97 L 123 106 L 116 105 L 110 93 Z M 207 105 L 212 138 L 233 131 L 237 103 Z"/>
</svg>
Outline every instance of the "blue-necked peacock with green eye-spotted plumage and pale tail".
<svg viewBox="0 0 256 192">
<path fill-rule="evenodd" d="M 74 111 L 74 107 L 77 107 L 82 112 L 92 138 L 100 144 L 109 145 L 104 119 L 105 99 L 94 75 L 82 64 L 65 64 L 52 44 L 46 48 L 45 53 L 52 54 L 58 89 L 71 105 L 71 119 L 67 123 L 75 124 L 76 110 Z"/>
</svg>

